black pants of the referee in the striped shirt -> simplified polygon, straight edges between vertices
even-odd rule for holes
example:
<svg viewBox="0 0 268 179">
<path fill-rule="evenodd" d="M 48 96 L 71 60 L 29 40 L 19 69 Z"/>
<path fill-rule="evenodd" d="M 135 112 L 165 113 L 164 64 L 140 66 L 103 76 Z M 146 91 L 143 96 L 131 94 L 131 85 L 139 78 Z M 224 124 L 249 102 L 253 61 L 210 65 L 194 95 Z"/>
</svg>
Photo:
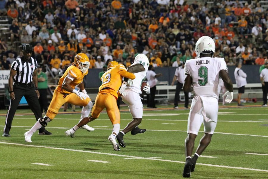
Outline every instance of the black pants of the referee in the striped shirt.
<svg viewBox="0 0 268 179">
<path fill-rule="evenodd" d="M 38 103 L 38 98 L 35 92 L 34 84 L 29 84 L 29 86 L 14 84 L 13 91 L 15 94 L 15 99 L 10 100 L 10 106 L 8 108 L 5 126 L 4 126 L 4 132 L 8 134 L 11 129 L 11 124 L 12 124 L 15 112 L 23 96 L 25 97 L 30 109 L 35 114 L 36 121 L 38 121 L 39 118 L 42 118 L 42 112 L 40 109 L 40 105 Z M 45 130 L 44 127 L 40 128 L 39 133 L 44 132 L 44 130 Z"/>
</svg>

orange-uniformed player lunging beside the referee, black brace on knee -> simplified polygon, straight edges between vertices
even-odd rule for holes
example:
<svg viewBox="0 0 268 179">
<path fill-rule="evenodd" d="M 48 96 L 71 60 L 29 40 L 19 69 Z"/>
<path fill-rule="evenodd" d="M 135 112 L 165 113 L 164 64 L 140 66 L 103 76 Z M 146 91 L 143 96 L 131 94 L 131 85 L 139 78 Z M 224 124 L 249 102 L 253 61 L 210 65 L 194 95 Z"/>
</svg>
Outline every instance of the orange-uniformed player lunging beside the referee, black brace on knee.
<svg viewBox="0 0 268 179">
<path fill-rule="evenodd" d="M 64 103 L 83 106 L 80 121 L 88 117 L 93 104 L 85 90 L 83 78 L 88 74 L 89 65 L 89 59 L 85 53 L 78 53 L 74 57 L 74 64 L 67 68 L 54 90 L 52 101 L 46 115 L 43 118 L 39 118 L 35 125 L 29 131 L 25 132 L 26 142 L 32 142 L 31 137 L 33 133 L 52 121 Z M 82 92 L 75 90 L 76 85 L 80 87 Z M 94 131 L 94 128 L 88 125 L 80 127 L 88 131 Z"/>
</svg>

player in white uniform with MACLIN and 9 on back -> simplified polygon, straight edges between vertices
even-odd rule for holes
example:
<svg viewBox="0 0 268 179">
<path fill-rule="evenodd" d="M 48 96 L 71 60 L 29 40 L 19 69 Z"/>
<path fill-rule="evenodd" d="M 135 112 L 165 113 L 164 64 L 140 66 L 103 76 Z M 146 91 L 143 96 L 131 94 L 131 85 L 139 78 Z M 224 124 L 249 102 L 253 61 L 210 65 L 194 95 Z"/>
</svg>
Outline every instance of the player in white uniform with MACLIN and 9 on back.
<svg viewBox="0 0 268 179">
<path fill-rule="evenodd" d="M 183 177 L 188 178 L 194 171 L 197 158 L 202 154 L 211 141 L 218 119 L 218 84 L 222 78 L 228 90 L 225 102 L 233 100 L 233 83 L 228 75 L 224 58 L 213 58 L 215 43 L 212 38 L 203 36 L 195 44 L 196 59 L 187 60 L 184 70 L 186 78 L 183 91 L 194 91 L 194 98 L 188 116 L 188 136 L 185 139 L 186 163 Z M 204 136 L 200 140 L 196 153 L 191 158 L 194 140 L 201 124 L 204 124 Z"/>
</svg>

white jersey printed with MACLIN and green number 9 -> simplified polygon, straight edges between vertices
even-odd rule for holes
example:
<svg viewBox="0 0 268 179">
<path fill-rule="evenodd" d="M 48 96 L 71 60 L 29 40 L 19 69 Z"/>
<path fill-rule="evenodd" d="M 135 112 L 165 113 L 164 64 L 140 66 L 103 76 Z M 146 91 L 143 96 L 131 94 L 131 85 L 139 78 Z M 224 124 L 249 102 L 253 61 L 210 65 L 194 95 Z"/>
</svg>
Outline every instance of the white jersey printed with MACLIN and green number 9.
<svg viewBox="0 0 268 179">
<path fill-rule="evenodd" d="M 194 95 L 218 97 L 219 71 L 227 70 L 224 58 L 202 57 L 187 60 L 184 70 L 193 79 Z"/>
</svg>

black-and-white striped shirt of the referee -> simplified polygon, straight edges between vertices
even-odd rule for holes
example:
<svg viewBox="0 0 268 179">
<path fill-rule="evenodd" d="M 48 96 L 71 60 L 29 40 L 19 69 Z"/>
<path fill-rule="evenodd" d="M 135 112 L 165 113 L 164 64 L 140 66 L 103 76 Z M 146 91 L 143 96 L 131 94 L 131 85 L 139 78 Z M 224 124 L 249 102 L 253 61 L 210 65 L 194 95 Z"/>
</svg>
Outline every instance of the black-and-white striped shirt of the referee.
<svg viewBox="0 0 268 179">
<path fill-rule="evenodd" d="M 23 58 L 23 57 L 22 57 Z M 31 57 L 28 61 L 17 58 L 13 61 L 11 69 L 16 70 L 17 74 L 14 77 L 14 81 L 19 83 L 31 83 L 32 73 L 37 68 L 37 61 Z"/>
</svg>

